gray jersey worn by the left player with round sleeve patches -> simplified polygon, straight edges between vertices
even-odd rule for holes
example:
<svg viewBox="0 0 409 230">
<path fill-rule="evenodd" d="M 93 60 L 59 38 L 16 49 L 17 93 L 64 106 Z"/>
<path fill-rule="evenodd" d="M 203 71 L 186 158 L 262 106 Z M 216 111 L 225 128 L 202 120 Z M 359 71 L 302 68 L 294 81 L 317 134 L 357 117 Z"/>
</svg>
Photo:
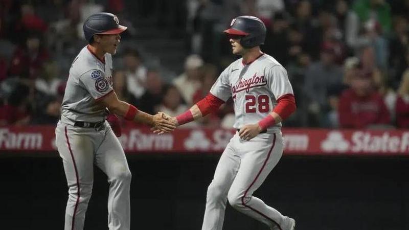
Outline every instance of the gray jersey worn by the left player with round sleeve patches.
<svg viewBox="0 0 409 230">
<path fill-rule="evenodd" d="M 104 63 L 105 62 L 105 63 Z M 95 100 L 112 91 L 112 57 L 105 54 L 99 60 L 88 47 L 74 59 L 62 101 L 62 121 L 100 122 L 106 110 Z"/>
</svg>

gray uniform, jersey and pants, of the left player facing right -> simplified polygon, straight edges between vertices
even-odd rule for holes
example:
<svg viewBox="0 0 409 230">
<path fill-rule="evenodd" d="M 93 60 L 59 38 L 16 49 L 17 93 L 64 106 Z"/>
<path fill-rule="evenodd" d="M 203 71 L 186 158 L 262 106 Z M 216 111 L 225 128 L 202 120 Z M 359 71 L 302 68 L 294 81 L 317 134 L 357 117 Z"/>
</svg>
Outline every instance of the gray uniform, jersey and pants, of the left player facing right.
<svg viewBox="0 0 409 230">
<path fill-rule="evenodd" d="M 124 150 L 105 120 L 100 100 L 112 91 L 112 58 L 98 59 L 84 47 L 74 59 L 62 102 L 55 143 L 69 187 L 64 230 L 82 230 L 93 190 L 94 165 L 108 177 L 108 228 L 130 229 L 129 171 Z M 101 122 L 97 128 L 74 126 L 76 121 Z"/>
</svg>

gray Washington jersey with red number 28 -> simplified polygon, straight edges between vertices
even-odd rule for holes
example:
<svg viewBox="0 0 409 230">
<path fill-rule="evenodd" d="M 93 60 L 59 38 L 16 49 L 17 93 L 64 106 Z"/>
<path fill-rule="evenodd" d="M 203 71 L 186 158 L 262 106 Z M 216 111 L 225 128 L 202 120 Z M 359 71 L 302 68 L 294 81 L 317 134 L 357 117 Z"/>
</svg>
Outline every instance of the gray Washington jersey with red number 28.
<svg viewBox="0 0 409 230">
<path fill-rule="evenodd" d="M 223 101 L 233 97 L 237 129 L 257 123 L 277 105 L 277 99 L 293 94 L 287 71 L 276 59 L 262 54 L 251 64 L 244 65 L 242 60 L 225 68 L 210 90 Z M 277 123 L 268 130 L 280 127 Z"/>
</svg>

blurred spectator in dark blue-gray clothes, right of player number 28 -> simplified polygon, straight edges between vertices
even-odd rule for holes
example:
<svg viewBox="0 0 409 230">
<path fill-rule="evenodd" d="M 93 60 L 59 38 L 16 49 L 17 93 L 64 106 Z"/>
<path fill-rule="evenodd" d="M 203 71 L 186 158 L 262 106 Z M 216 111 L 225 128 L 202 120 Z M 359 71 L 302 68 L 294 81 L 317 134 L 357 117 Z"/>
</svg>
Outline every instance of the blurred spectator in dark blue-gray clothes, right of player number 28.
<svg viewBox="0 0 409 230">
<path fill-rule="evenodd" d="M 331 46 L 321 50 L 320 61 L 312 63 L 305 73 L 303 94 L 308 104 L 311 125 L 322 126 L 322 116 L 328 109 L 327 93 L 330 86 L 342 85 L 342 68 L 335 63 L 335 51 Z"/>
</svg>

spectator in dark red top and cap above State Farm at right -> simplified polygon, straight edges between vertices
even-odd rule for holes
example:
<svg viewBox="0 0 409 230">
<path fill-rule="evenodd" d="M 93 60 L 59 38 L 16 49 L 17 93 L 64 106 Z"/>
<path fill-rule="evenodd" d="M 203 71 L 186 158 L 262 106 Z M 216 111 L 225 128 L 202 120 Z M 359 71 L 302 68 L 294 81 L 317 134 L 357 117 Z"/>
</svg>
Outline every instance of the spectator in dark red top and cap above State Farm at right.
<svg viewBox="0 0 409 230">
<path fill-rule="evenodd" d="M 372 79 L 360 73 L 351 80 L 351 88 L 339 99 L 339 124 L 342 128 L 388 126 L 391 119 L 382 97 L 372 87 Z"/>
</svg>

